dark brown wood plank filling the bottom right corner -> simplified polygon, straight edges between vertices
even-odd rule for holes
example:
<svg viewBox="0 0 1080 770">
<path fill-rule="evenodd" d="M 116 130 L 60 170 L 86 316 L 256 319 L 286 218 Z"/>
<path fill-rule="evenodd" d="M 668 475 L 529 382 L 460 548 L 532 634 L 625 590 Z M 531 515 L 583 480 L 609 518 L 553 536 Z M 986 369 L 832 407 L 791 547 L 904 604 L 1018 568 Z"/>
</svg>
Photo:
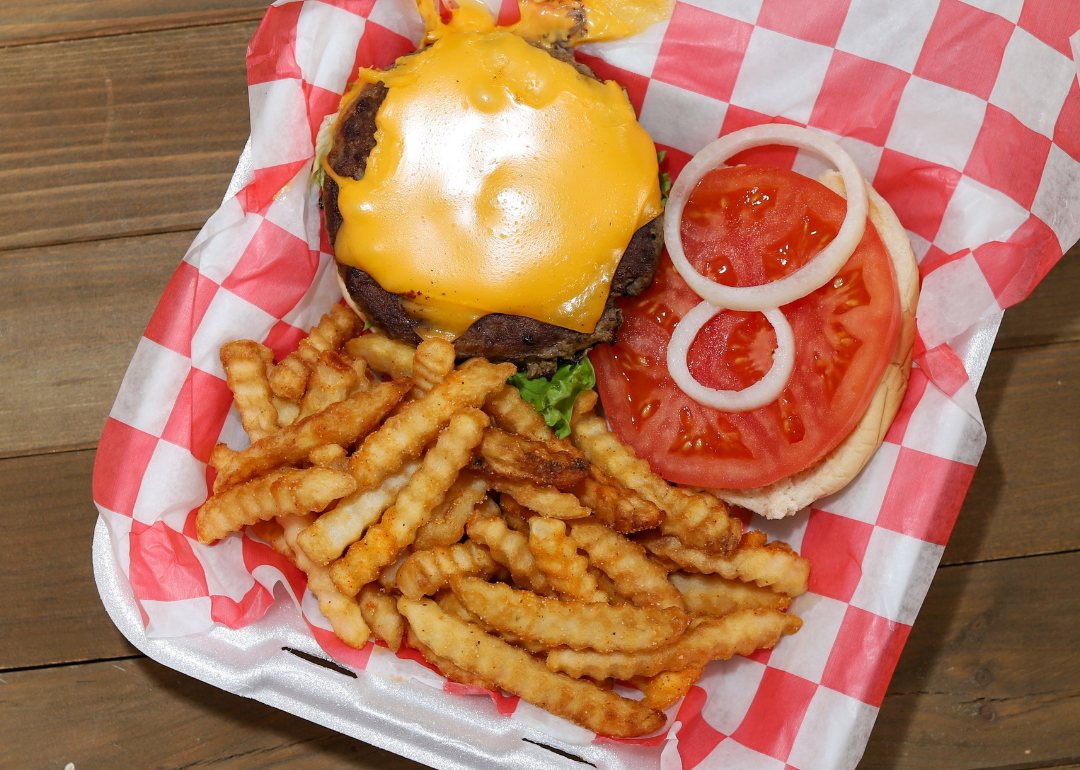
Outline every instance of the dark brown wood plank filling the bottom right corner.
<svg viewBox="0 0 1080 770">
<path fill-rule="evenodd" d="M 864 770 L 1080 760 L 1080 553 L 939 570 Z"/>
</svg>

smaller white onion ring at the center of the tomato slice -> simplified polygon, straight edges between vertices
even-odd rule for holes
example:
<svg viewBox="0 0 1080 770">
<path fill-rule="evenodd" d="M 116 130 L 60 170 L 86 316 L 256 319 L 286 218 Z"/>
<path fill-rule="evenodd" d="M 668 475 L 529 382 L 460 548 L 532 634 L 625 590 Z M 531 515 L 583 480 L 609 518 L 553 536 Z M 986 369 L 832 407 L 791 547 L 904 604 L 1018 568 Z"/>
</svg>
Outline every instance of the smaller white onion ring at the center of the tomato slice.
<svg viewBox="0 0 1080 770">
<path fill-rule="evenodd" d="M 701 327 L 724 308 L 702 302 L 683 316 L 667 343 L 667 370 L 684 393 L 699 404 L 720 411 L 751 411 L 771 404 L 787 387 L 787 380 L 795 368 L 795 335 L 787 319 L 779 308 L 762 310 L 766 320 L 777 333 L 777 351 L 772 356 L 772 367 L 748 388 L 742 390 L 715 390 L 706 388 L 693 378 L 687 365 L 687 354 Z"/>
</svg>

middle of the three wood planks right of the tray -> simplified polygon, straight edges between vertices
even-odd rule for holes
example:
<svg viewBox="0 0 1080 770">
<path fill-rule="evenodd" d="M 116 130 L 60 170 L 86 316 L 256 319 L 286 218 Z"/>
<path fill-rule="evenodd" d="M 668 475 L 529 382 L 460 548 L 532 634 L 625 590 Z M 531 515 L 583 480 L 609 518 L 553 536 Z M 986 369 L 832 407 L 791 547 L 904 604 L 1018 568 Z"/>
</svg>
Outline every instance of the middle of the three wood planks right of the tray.
<svg viewBox="0 0 1080 770">
<path fill-rule="evenodd" d="M 986 450 L 944 564 L 1080 549 L 1078 392 L 1080 342 L 990 355 Z"/>
</svg>

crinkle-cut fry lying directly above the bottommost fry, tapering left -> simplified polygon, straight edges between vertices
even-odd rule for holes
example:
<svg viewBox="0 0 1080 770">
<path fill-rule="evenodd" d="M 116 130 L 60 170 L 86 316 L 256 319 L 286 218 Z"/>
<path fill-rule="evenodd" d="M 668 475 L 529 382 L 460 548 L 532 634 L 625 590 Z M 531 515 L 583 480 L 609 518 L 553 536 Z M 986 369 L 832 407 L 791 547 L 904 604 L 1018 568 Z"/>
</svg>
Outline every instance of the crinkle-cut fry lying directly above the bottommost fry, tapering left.
<svg viewBox="0 0 1080 770">
<path fill-rule="evenodd" d="M 638 652 L 674 640 L 690 623 L 690 616 L 675 608 L 563 602 L 459 576 L 449 582 L 465 608 L 484 622 L 549 647 Z"/>
</svg>

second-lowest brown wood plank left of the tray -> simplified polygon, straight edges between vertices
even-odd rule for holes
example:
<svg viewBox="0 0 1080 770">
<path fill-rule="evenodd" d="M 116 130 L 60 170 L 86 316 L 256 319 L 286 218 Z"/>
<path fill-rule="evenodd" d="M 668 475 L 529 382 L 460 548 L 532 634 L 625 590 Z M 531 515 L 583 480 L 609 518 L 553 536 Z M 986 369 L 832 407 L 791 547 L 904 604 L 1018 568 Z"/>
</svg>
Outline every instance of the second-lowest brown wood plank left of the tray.
<svg viewBox="0 0 1080 770">
<path fill-rule="evenodd" d="M 93 467 L 93 451 L 0 460 L 0 671 L 138 652 L 94 584 Z"/>
</svg>

